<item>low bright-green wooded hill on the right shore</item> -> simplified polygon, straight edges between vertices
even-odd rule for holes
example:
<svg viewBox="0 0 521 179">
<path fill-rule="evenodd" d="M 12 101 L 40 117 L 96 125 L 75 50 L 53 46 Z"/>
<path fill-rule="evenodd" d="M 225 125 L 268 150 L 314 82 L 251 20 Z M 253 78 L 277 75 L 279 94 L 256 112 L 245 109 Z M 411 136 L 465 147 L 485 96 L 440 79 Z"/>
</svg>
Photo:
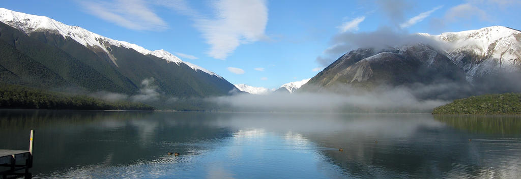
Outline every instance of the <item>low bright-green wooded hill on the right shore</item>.
<svg viewBox="0 0 521 179">
<path fill-rule="evenodd" d="M 521 114 L 521 93 L 486 94 L 456 99 L 432 114 Z"/>
</svg>

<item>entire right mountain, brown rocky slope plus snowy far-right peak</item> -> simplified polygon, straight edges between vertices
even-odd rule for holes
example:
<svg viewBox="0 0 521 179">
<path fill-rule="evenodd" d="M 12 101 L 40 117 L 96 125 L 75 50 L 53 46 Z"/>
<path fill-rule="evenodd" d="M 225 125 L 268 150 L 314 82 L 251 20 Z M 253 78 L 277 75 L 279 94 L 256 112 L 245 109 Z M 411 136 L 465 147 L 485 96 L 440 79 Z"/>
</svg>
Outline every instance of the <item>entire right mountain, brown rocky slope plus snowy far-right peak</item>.
<svg viewBox="0 0 521 179">
<path fill-rule="evenodd" d="M 349 89 L 342 86 L 345 84 L 364 90 L 422 84 L 438 85 L 429 88 L 429 94 L 418 95 L 423 98 L 453 99 L 483 93 L 521 92 L 518 81 L 521 78 L 520 31 L 493 26 L 416 35 L 419 35 L 415 37 L 418 41 L 408 44 L 352 50 L 299 91 L 345 92 Z"/>
</svg>

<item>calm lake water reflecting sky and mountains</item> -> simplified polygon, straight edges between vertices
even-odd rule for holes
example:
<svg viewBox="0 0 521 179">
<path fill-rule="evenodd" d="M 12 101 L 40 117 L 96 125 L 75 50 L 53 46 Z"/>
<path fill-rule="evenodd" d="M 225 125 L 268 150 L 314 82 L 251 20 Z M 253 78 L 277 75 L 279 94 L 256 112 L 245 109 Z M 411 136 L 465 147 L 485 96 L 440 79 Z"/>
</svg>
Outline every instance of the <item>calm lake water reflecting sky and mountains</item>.
<svg viewBox="0 0 521 179">
<path fill-rule="evenodd" d="M 36 178 L 521 177 L 515 116 L 0 110 L 0 149 L 31 129 Z"/>
</svg>

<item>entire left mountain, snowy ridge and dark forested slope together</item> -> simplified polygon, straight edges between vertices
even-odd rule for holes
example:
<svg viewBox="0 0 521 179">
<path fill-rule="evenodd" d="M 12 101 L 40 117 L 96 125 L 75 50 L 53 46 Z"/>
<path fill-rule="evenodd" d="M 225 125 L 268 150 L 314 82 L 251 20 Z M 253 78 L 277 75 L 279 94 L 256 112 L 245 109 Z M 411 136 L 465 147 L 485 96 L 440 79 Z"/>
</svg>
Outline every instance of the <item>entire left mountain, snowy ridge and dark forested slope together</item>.
<svg viewBox="0 0 521 179">
<path fill-rule="evenodd" d="M 166 50 L 148 50 L 56 20 L 0 8 L 0 82 L 49 90 L 176 97 L 229 95 L 221 76 Z"/>
</svg>

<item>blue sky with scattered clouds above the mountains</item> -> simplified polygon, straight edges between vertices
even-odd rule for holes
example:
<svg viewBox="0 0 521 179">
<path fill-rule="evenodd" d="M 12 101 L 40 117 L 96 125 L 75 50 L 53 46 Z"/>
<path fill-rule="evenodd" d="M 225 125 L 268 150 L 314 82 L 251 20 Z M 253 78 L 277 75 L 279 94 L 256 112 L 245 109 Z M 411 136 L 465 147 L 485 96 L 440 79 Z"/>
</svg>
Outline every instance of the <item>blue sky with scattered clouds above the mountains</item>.
<svg viewBox="0 0 521 179">
<path fill-rule="evenodd" d="M 521 1 L 7 1 L 1 7 L 165 49 L 230 83 L 278 88 L 312 78 L 355 48 L 342 33 L 439 34 L 492 25 L 521 29 Z"/>
</svg>

